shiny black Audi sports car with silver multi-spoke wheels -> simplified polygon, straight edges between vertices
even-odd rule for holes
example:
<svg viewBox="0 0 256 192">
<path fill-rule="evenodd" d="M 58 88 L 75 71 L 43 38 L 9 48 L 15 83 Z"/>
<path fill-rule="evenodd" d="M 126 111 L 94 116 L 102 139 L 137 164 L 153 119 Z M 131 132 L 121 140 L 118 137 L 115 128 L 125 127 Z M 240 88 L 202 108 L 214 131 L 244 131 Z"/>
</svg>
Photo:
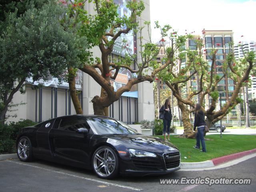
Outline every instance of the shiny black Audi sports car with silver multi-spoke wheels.
<svg viewBox="0 0 256 192">
<path fill-rule="evenodd" d="M 40 158 L 93 169 L 106 179 L 180 169 L 180 152 L 173 144 L 106 116 L 63 116 L 25 127 L 16 146 L 21 161 Z"/>
</svg>

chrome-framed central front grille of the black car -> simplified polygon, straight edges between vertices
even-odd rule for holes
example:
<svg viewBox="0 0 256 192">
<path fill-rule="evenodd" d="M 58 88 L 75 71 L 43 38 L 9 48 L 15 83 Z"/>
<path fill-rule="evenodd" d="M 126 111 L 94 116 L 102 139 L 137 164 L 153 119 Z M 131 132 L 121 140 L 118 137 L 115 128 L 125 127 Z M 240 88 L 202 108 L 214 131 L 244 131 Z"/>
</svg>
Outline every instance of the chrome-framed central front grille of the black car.
<svg viewBox="0 0 256 192">
<path fill-rule="evenodd" d="M 180 166 L 180 152 L 163 154 L 166 169 L 173 169 Z"/>
</svg>

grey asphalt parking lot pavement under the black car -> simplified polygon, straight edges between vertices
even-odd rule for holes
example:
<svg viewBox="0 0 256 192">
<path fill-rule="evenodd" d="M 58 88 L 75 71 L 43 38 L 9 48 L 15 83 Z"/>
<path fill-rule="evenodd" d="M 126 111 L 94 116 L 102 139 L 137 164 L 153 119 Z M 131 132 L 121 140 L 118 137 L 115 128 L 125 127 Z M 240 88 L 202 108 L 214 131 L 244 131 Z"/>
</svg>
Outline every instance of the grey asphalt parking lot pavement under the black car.
<svg viewBox="0 0 256 192">
<path fill-rule="evenodd" d="M 230 167 L 204 171 L 178 170 L 164 176 L 122 177 L 102 180 L 94 172 L 63 166 L 42 160 L 20 162 L 19 160 L 0 161 L 0 192 L 198 192 L 198 191 L 247 191 L 256 188 L 254 166 L 256 157 Z M 239 176 L 238 176 L 239 175 Z M 250 185 L 160 185 L 160 179 L 196 178 L 250 178 Z"/>
</svg>

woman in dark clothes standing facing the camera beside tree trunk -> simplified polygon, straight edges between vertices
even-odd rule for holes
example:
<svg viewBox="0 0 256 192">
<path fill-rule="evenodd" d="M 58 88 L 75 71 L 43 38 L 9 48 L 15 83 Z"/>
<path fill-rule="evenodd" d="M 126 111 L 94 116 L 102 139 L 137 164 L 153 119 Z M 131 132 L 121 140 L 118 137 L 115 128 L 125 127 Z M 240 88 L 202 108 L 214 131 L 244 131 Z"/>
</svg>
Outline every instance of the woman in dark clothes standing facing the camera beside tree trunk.
<svg viewBox="0 0 256 192">
<path fill-rule="evenodd" d="M 171 111 L 171 102 L 169 99 L 166 99 L 164 102 L 164 105 L 160 108 L 159 112 L 165 112 L 164 113 L 164 140 L 166 140 L 166 128 L 167 128 L 167 138 L 170 140 L 170 126 L 171 126 L 171 120 L 172 120 L 172 111 Z"/>
</svg>

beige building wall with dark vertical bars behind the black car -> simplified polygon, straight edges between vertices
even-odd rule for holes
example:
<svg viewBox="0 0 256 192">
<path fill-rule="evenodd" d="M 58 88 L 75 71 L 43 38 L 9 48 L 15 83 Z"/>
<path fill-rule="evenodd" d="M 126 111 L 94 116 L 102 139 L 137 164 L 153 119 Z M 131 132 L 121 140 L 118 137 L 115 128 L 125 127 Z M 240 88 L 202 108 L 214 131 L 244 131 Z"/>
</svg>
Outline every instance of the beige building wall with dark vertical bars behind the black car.
<svg viewBox="0 0 256 192">
<path fill-rule="evenodd" d="M 127 0 L 123 0 L 126 3 Z M 144 0 L 145 10 L 142 15 L 137 18 L 140 25 L 144 21 L 150 20 L 150 4 L 149 0 Z M 88 14 L 95 14 L 94 5 L 88 1 L 85 3 Z M 148 31 L 142 31 L 142 36 L 145 41 L 149 39 Z M 136 37 L 136 34 L 134 34 Z M 139 47 L 139 41 L 134 41 L 134 47 Z M 98 47 L 92 48 L 94 57 L 101 58 L 101 52 Z M 113 52 L 110 55 L 110 60 L 118 59 L 117 54 Z M 140 62 L 140 54 L 138 54 L 137 61 Z M 135 66 L 134 66 L 135 67 Z M 124 72 L 125 73 L 125 72 Z M 129 76 L 129 74 L 125 74 Z M 101 87 L 88 74 L 80 72 L 79 78 L 76 80 L 77 88 L 79 90 L 80 103 L 84 114 L 93 114 L 92 98 L 100 95 Z M 74 106 L 70 98 L 70 92 L 67 84 L 58 84 L 56 80 L 51 79 L 52 82 L 44 83 L 44 86 L 35 89 L 34 85 L 26 82 L 26 93 L 14 94 L 13 103 L 25 103 L 8 112 L 10 115 L 17 114 L 17 117 L 9 118 L 7 121 L 18 121 L 20 119 L 30 119 L 36 122 L 42 122 L 50 118 L 75 114 Z M 80 89 L 79 89 L 80 88 Z M 134 88 L 134 87 L 133 87 Z M 154 120 L 154 96 L 153 84 L 150 82 L 142 82 L 137 84 L 134 88 L 137 94 L 123 94 L 121 98 L 109 106 L 109 116 L 119 119 L 126 124 L 133 124 L 141 120 Z M 137 95 L 137 96 L 136 96 Z"/>
</svg>

